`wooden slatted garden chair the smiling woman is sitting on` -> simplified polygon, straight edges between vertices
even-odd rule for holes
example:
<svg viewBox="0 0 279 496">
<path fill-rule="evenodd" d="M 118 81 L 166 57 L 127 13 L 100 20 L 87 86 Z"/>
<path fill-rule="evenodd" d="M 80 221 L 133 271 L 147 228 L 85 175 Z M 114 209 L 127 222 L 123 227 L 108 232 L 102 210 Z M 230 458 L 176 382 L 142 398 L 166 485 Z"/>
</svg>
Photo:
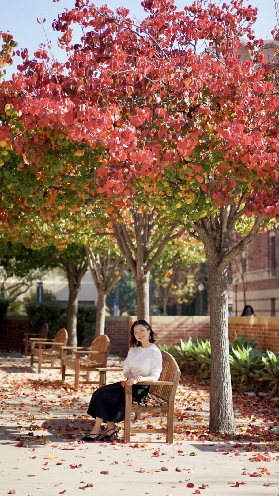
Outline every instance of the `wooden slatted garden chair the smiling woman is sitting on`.
<svg viewBox="0 0 279 496">
<path fill-rule="evenodd" d="M 130 442 L 131 433 L 167 433 L 167 442 L 173 442 L 174 422 L 174 399 L 180 378 L 180 370 L 174 358 L 162 351 L 163 369 L 159 380 L 154 382 L 142 382 L 150 384 L 147 395 L 147 403 L 138 404 L 132 401 L 132 386 L 125 385 L 125 418 L 124 418 L 124 442 Z M 131 429 L 131 416 L 141 413 L 167 413 L 167 429 Z"/>
</svg>

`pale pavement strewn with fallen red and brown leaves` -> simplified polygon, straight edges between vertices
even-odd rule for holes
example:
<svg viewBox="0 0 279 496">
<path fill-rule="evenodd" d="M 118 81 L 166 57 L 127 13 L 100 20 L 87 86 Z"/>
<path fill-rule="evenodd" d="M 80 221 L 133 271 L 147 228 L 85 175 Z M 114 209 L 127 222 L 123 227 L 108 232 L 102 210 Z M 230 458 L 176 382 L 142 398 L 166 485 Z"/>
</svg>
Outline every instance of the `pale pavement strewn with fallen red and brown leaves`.
<svg viewBox="0 0 279 496">
<path fill-rule="evenodd" d="M 275 402 L 263 394 L 247 394 L 233 386 L 238 434 L 233 438 L 208 434 L 209 381 L 200 381 L 194 376 L 182 375 L 175 402 L 174 442 L 166 452 L 166 438 L 161 434 L 150 436 L 144 434 L 138 440 L 139 435 L 132 433 L 131 442 L 127 444 L 121 442 L 121 433 L 119 440 L 114 440 L 112 443 L 102 443 L 102 440 L 97 443 L 86 443 L 82 437 L 94 425 L 94 420 L 86 414 L 93 391 L 92 386 L 83 384 L 78 391 L 74 391 L 73 377 L 62 382 L 59 373 L 55 370 L 47 371 L 47 375 L 44 373 L 38 375 L 34 373 L 36 366 L 32 371 L 28 365 L 28 360 L 23 358 L 13 360 L 4 356 L 1 361 L 0 444 L 6 445 L 2 446 L 5 449 L 16 449 L 14 460 L 27 461 L 26 477 L 29 481 L 35 480 L 36 477 L 38 479 L 44 471 L 53 473 L 55 466 L 56 470 L 63 470 L 60 480 L 58 478 L 54 484 L 54 494 L 67 494 L 70 491 L 70 485 L 65 489 L 63 482 L 67 480 L 66 474 L 69 471 L 79 471 L 80 475 L 87 475 L 87 480 L 76 479 L 76 488 L 90 491 L 96 486 L 92 474 L 97 468 L 90 468 L 88 463 L 83 467 L 81 460 L 74 459 L 86 460 L 89 453 L 92 458 L 93 449 L 95 449 L 93 464 L 96 465 L 97 461 L 102 464 L 99 474 L 106 475 L 106 480 L 117 477 L 115 473 L 121 478 L 124 469 L 133 471 L 133 474 L 142 474 L 141 477 L 158 473 L 157 484 L 162 487 L 169 483 L 169 488 L 175 489 L 177 484 L 183 487 L 183 491 L 184 488 L 185 491 L 193 488 L 194 492 L 189 494 L 200 494 L 200 489 L 210 490 L 212 484 L 208 484 L 204 477 L 194 475 L 193 464 L 189 460 L 190 457 L 201 457 L 201 455 L 204 459 L 209 447 L 219 452 L 218 456 L 227 456 L 228 459 L 240 457 L 238 481 L 227 481 L 230 487 L 239 488 L 249 484 L 254 478 L 258 481 L 260 480 L 258 478 L 262 477 L 263 489 L 274 484 L 269 480 L 271 471 L 268 465 L 270 462 L 279 463 L 279 411 L 275 408 Z M 109 382 L 117 380 L 119 374 L 110 373 Z M 164 427 L 166 417 L 160 414 L 154 416 L 147 414 L 141 421 L 133 420 L 132 423 L 134 426 L 142 425 L 147 429 Z M 136 437 L 135 442 L 133 437 Z M 101 451 L 97 451 L 98 447 L 101 447 Z M 199 449 L 193 450 L 193 447 Z M 116 450 L 115 453 L 120 450 L 123 454 L 123 449 L 125 455 L 122 461 L 111 457 L 111 450 Z M 63 458 L 63 453 L 67 452 L 69 455 L 73 453 L 70 462 Z M 38 459 L 42 462 L 40 473 L 31 470 L 32 461 L 37 462 Z M 115 473 L 111 472 L 113 465 L 117 471 Z M 18 467 L 12 469 L 16 470 Z M 164 480 L 160 480 L 160 474 L 166 475 Z M 196 482 L 197 480 L 199 482 Z M 38 483 L 34 484 L 39 487 Z M 61 488 L 61 484 L 64 488 Z M 122 485 L 124 486 L 123 483 Z M 59 487 L 60 491 L 58 491 Z M 125 491 L 125 488 L 121 487 L 119 491 Z M 9 489 L 6 494 L 16 494 L 16 492 L 15 489 Z M 259 494 L 264 495 L 264 493 Z"/>
</svg>

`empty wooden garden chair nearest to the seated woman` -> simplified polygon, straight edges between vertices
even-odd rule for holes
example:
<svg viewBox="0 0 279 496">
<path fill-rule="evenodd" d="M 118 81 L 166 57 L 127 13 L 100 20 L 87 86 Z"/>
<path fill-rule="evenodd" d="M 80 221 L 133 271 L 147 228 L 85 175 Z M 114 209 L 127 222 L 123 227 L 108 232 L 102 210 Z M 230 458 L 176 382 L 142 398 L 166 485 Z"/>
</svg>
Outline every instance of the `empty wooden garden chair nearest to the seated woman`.
<svg viewBox="0 0 279 496">
<path fill-rule="evenodd" d="M 80 372 L 86 372 L 86 374 L 81 375 L 81 377 L 85 377 L 85 380 L 81 381 L 82 384 L 99 384 L 99 380 L 90 380 L 90 372 L 99 372 L 98 367 L 106 367 L 110 349 L 110 339 L 106 334 L 95 338 L 90 348 L 63 346 L 61 357 L 62 380 L 65 380 L 65 375 L 68 375 L 65 373 L 66 367 L 68 367 L 74 370 L 75 373 L 75 390 L 79 387 Z M 67 350 L 71 350 L 73 354 L 66 356 Z M 82 355 L 87 355 L 87 357 Z"/>
</svg>

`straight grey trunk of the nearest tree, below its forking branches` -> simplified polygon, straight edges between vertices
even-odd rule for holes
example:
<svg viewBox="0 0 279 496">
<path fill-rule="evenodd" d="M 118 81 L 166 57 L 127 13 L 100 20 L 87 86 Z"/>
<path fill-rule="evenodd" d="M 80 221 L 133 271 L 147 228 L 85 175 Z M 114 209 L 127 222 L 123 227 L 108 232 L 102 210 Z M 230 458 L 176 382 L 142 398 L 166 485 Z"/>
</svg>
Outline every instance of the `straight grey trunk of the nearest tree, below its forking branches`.
<svg viewBox="0 0 279 496">
<path fill-rule="evenodd" d="M 209 432 L 235 434 L 229 369 L 227 273 L 209 267 L 211 384 Z"/>
</svg>

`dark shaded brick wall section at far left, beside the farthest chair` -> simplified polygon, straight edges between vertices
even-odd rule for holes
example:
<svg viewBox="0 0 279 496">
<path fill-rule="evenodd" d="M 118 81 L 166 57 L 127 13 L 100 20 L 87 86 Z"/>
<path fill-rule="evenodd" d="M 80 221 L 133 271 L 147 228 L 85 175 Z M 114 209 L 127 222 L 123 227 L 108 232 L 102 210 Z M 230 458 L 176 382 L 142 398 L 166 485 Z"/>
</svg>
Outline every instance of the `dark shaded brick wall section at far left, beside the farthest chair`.
<svg viewBox="0 0 279 496">
<path fill-rule="evenodd" d="M 7 317 L 0 323 L 0 350 L 23 350 L 24 332 L 34 332 L 25 316 Z"/>
</svg>

